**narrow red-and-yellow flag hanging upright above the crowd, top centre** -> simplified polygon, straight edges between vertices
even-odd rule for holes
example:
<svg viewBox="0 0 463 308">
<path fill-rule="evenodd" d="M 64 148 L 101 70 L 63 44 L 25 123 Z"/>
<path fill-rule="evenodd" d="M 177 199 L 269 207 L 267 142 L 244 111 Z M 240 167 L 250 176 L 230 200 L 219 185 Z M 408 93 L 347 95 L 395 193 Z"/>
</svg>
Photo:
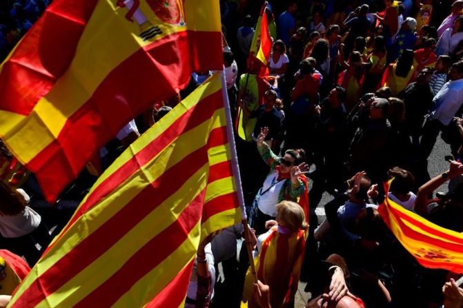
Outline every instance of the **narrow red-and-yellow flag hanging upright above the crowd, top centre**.
<svg viewBox="0 0 463 308">
<path fill-rule="evenodd" d="M 270 52 L 272 51 L 272 37 L 270 37 L 267 21 L 267 5 L 268 3 L 265 1 L 260 10 L 260 16 L 259 19 L 257 19 L 257 25 L 248 56 L 248 68 L 256 68 L 259 66 L 259 76 L 268 75 L 267 65 L 270 60 Z"/>
</svg>

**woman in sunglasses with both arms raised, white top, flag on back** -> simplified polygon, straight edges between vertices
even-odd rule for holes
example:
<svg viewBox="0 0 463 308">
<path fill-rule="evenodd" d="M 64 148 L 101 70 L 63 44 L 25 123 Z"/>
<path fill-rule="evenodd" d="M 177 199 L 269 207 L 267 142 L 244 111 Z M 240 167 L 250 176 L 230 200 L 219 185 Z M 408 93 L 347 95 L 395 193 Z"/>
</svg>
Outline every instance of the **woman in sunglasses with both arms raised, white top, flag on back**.
<svg viewBox="0 0 463 308">
<path fill-rule="evenodd" d="M 270 166 L 270 173 L 259 189 L 251 210 L 251 225 L 256 234 L 266 232 L 266 221 L 275 220 L 277 204 L 282 201 L 299 203 L 308 217 L 308 185 L 304 175 L 308 165 L 304 163 L 304 150 L 287 150 L 280 158 L 264 142 L 267 134 L 268 127 L 262 127 L 257 138 L 257 150 Z"/>
</svg>

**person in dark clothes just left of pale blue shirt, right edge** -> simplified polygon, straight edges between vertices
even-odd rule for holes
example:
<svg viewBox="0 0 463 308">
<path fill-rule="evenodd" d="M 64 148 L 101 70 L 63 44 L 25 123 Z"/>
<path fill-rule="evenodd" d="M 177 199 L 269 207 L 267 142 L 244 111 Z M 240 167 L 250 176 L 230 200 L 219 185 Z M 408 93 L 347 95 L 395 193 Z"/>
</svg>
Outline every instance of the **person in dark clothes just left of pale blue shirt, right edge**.
<svg viewBox="0 0 463 308">
<path fill-rule="evenodd" d="M 405 103 L 406 134 L 411 136 L 414 145 L 419 145 L 424 116 L 431 109 L 434 92 L 429 84 L 431 70 L 424 68 L 417 76 L 415 82 L 410 83 L 400 92 L 399 98 Z"/>
</svg>

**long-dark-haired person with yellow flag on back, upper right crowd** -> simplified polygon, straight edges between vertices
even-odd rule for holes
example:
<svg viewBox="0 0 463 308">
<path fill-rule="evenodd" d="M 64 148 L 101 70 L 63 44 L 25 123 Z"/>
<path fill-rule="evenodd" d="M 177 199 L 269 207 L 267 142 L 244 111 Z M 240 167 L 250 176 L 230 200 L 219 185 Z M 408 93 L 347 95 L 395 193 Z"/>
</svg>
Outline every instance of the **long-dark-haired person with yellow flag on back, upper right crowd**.
<svg viewBox="0 0 463 308">
<path fill-rule="evenodd" d="M 397 96 L 413 79 L 415 79 L 413 51 L 407 49 L 400 55 L 396 63 L 391 63 L 386 68 L 381 86 L 391 88 L 391 94 Z"/>
</svg>

